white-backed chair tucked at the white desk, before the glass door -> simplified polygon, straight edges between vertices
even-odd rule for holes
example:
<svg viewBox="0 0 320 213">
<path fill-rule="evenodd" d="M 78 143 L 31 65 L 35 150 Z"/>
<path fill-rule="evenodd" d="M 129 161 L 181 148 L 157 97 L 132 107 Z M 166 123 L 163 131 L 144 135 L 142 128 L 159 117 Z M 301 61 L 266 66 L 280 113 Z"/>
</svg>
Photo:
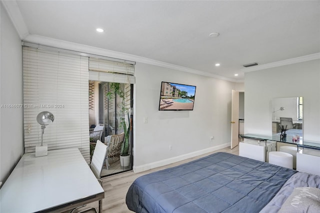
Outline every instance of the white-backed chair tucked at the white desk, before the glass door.
<svg viewBox="0 0 320 213">
<path fill-rule="evenodd" d="M 102 143 L 100 140 L 97 140 L 95 147 L 94 147 L 92 159 L 90 162 L 90 168 L 91 168 L 93 174 L 95 175 L 96 179 L 99 181 L 101 186 L 102 186 L 102 180 L 100 178 L 101 178 L 101 172 L 102 172 L 102 167 L 104 164 L 106 151 L 107 151 L 107 146 L 104 143 Z M 71 213 L 73 213 L 76 209 L 84 207 L 84 206 L 85 205 L 81 205 L 79 207 L 74 208 L 71 211 Z M 99 200 L 99 209 L 102 211 L 102 199 Z M 85 211 L 89 211 L 89 210 L 94 210 L 96 213 L 99 212 L 96 210 L 96 208 L 91 207 L 91 208 L 80 210 L 77 213 L 85 212 Z"/>
</svg>

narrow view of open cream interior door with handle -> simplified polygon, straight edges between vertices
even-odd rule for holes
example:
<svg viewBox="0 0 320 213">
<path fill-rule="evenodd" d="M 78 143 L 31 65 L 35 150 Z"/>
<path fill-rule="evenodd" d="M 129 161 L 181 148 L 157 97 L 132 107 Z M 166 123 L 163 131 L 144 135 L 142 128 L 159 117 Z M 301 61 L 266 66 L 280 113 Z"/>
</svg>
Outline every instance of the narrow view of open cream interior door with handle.
<svg viewBox="0 0 320 213">
<path fill-rule="evenodd" d="M 231 93 L 231 148 L 239 144 L 239 91 Z"/>
</svg>

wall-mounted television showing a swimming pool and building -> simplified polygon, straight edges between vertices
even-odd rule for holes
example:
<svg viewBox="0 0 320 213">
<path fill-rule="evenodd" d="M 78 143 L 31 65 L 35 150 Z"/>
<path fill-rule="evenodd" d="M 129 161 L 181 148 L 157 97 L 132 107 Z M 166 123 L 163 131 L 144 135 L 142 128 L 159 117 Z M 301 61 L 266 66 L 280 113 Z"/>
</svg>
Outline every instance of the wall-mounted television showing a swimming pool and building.
<svg viewBox="0 0 320 213">
<path fill-rule="evenodd" d="M 159 110 L 193 110 L 195 86 L 161 82 Z"/>
</svg>

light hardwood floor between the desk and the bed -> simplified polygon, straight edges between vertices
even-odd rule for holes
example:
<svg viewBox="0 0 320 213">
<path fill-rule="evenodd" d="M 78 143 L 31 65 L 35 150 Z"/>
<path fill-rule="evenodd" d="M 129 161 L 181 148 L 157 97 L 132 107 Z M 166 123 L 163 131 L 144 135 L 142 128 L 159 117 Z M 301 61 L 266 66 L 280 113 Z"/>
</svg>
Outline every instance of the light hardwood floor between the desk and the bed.
<svg viewBox="0 0 320 213">
<path fill-rule="evenodd" d="M 134 173 L 133 171 L 127 171 L 127 172 L 123 172 L 120 174 L 115 174 L 112 176 L 108 176 L 105 178 L 102 178 L 102 182 L 103 182 L 103 189 L 104 189 L 104 199 L 102 200 L 102 209 L 103 209 L 103 213 L 129 213 L 132 211 L 130 211 L 125 204 L 125 195 L 126 192 L 130 186 L 130 184 L 139 176 L 153 172 L 153 171 L 157 171 L 157 170 L 161 170 L 164 168 L 168 168 L 168 167 L 172 167 L 175 165 L 179 165 L 181 163 L 185 163 L 185 162 L 189 162 L 191 160 L 194 159 L 198 159 L 200 157 L 206 156 L 208 154 L 211 153 L 215 153 L 218 151 L 224 151 L 224 152 L 229 152 L 232 154 L 239 154 L 239 146 L 234 147 L 233 149 L 230 149 L 230 147 L 226 147 L 226 148 L 222 148 L 213 152 L 209 152 L 206 154 L 202 154 L 199 156 L 195 156 L 195 157 L 191 157 L 185 160 L 181 160 L 175 163 L 171 163 L 165 166 L 161 166 L 161 167 L 157 167 L 157 168 L 153 168 L 147 171 L 142 171 L 139 173 Z M 93 207 L 97 207 L 97 201 L 90 203 L 87 206 L 93 206 Z"/>
</svg>

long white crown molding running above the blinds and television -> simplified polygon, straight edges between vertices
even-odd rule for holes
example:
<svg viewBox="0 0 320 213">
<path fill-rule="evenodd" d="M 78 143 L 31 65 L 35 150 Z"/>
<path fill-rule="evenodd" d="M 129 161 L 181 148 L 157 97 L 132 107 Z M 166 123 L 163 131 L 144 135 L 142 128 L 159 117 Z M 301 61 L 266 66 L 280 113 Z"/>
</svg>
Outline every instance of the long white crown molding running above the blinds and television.
<svg viewBox="0 0 320 213">
<path fill-rule="evenodd" d="M 74 42 L 65 41 L 65 40 L 54 39 L 54 38 L 45 37 L 45 36 L 36 35 L 36 34 L 27 35 L 23 39 L 23 41 L 28 41 L 28 42 L 52 46 L 52 47 L 58 47 L 58 48 L 77 51 L 77 52 L 84 52 L 84 53 L 89 53 L 89 54 L 119 58 L 119 59 L 123 59 L 123 60 L 131 60 L 131 61 L 151 64 L 151 65 L 161 66 L 161 67 L 165 67 L 165 68 L 175 69 L 175 70 L 179 70 L 179 71 L 189 72 L 189 73 L 193 73 L 193 74 L 218 78 L 218 79 L 227 80 L 227 81 L 231 81 L 231 82 L 243 82 L 238 79 L 227 78 L 227 77 L 223 77 L 220 75 L 200 71 L 197 69 L 191 69 L 188 67 L 179 66 L 179 65 L 175 65 L 175 64 L 171 64 L 171 63 L 166 63 L 166 62 L 162 62 L 162 61 L 158 61 L 158 60 L 154 60 L 154 59 L 150 59 L 150 58 L 146 58 L 146 57 L 141 57 L 141 56 L 137 56 L 137 55 L 133 55 L 133 54 L 127 54 L 127 53 L 123 53 L 123 52 L 112 51 L 112 50 L 108 50 L 108 49 L 84 45 L 84 44 L 80 44 L 80 43 L 74 43 Z"/>
</svg>

